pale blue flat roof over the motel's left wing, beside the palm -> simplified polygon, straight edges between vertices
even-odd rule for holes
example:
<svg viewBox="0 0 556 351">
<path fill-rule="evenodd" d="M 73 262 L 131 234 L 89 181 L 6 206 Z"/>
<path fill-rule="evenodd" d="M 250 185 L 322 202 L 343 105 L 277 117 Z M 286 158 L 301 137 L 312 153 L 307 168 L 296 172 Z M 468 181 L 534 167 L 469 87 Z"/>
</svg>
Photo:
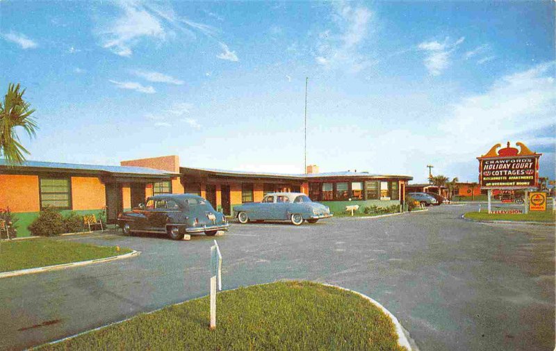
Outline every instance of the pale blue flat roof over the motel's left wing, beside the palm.
<svg viewBox="0 0 556 351">
<path fill-rule="evenodd" d="M 57 163 L 44 161 L 24 161 L 21 165 L 8 165 L 5 159 L 0 158 L 0 168 L 13 170 L 67 170 L 71 171 L 87 171 L 87 172 L 104 172 L 118 175 L 135 175 L 147 177 L 169 177 L 172 175 L 179 176 L 179 173 L 167 172 L 163 170 L 154 170 L 146 167 L 131 167 L 120 165 L 84 165 L 81 163 Z"/>
</svg>

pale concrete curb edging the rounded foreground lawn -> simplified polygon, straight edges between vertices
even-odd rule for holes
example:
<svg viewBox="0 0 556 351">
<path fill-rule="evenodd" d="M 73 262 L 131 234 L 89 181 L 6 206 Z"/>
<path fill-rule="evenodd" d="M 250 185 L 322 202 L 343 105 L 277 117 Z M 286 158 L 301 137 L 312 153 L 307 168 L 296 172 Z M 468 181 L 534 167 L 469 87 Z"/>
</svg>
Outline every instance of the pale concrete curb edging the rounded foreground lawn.
<svg viewBox="0 0 556 351">
<path fill-rule="evenodd" d="M 291 280 L 290 279 L 279 279 L 277 281 L 291 281 Z M 277 282 L 277 281 L 275 281 L 275 282 Z M 389 310 L 387 310 L 384 306 L 382 306 L 382 304 L 379 304 L 379 302 L 373 300 L 372 298 L 368 297 L 367 295 L 364 295 L 364 294 L 359 293 L 357 291 L 350 290 L 348 288 L 342 288 L 341 286 L 327 284 L 327 283 L 320 283 L 318 281 L 311 281 L 311 282 L 316 283 L 316 284 L 320 284 L 320 285 L 323 285 L 323 286 L 329 286 L 331 288 L 337 288 L 337 289 L 340 289 L 340 290 L 349 291 L 350 293 L 357 294 L 357 295 L 363 297 L 364 299 L 368 300 L 370 303 L 372 303 L 376 307 L 378 307 L 383 313 L 385 313 L 386 316 L 389 316 L 389 318 L 392 320 L 392 323 L 395 326 L 395 332 L 396 332 L 396 334 L 398 334 L 398 345 L 404 346 L 405 348 L 407 348 L 408 351 L 419 351 L 415 341 L 413 339 L 411 339 L 411 337 L 409 337 L 409 333 L 407 332 L 407 330 L 404 329 L 404 327 L 402 327 L 402 325 L 398 321 L 398 318 L 395 318 L 395 316 Z M 272 283 L 254 284 L 254 285 L 250 285 L 250 286 L 261 286 L 261 285 L 268 285 L 268 284 L 272 284 Z M 241 286 L 238 287 L 238 288 L 241 288 Z M 222 291 L 222 293 L 225 293 L 226 291 L 235 291 L 235 290 L 238 290 L 238 288 L 234 288 L 234 289 L 230 289 L 230 290 L 224 290 L 224 291 Z M 73 334 L 73 335 L 70 335 L 70 336 L 66 336 L 65 338 L 60 338 L 60 339 L 55 340 L 55 341 L 50 341 L 48 343 L 33 346 L 32 348 L 29 348 L 29 350 L 37 350 L 38 348 L 40 348 L 44 345 L 54 345 L 56 343 L 61 343 L 63 341 L 69 340 L 71 338 L 75 338 L 77 336 L 81 336 L 83 334 L 87 334 L 87 333 L 90 333 L 90 332 L 95 332 L 97 330 L 104 329 L 106 327 L 111 327 L 113 325 L 118 325 L 118 324 L 127 322 L 128 320 L 131 320 L 132 318 L 135 318 L 136 316 L 139 316 L 140 314 L 152 314 L 152 313 L 161 311 L 162 309 L 165 309 L 168 306 L 176 306 L 176 305 L 179 305 L 179 304 L 184 304 L 188 301 L 199 300 L 199 299 L 201 299 L 203 297 L 206 297 L 206 296 L 208 296 L 208 295 L 204 295 L 204 296 L 201 296 L 201 297 L 196 297 L 196 298 L 193 298 L 193 299 L 190 299 L 190 300 L 185 300 L 183 302 L 178 302 L 176 304 L 168 304 L 164 307 L 161 307 L 160 309 L 155 309 L 154 311 L 140 312 L 140 313 L 137 313 L 135 316 L 131 316 L 129 318 L 118 320 L 117 322 L 108 323 L 106 325 L 101 325 L 100 327 L 96 327 L 94 329 L 85 330 L 85 332 Z M 406 334 L 408 334 L 408 336 L 406 336 Z M 409 338 L 409 340 L 411 340 L 411 343 L 409 342 L 408 338 Z"/>
</svg>

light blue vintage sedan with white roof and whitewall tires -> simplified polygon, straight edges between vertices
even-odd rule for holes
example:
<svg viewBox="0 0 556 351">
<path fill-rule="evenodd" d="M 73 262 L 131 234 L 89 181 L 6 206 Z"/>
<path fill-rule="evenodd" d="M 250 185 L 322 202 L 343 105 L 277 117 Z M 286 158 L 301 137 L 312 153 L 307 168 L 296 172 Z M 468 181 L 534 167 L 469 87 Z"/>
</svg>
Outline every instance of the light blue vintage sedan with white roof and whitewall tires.
<svg viewBox="0 0 556 351">
<path fill-rule="evenodd" d="M 262 202 L 235 206 L 234 213 L 242 224 L 250 220 L 291 220 L 293 225 L 301 225 L 304 220 L 316 223 L 332 217 L 328 206 L 312 202 L 303 193 L 269 193 Z"/>
</svg>

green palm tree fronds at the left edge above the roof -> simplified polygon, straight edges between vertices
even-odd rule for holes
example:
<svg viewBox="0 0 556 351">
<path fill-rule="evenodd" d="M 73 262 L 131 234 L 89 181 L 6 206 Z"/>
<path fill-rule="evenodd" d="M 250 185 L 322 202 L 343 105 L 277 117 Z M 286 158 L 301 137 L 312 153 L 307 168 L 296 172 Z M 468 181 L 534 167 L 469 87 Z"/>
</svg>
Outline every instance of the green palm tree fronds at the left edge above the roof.
<svg viewBox="0 0 556 351">
<path fill-rule="evenodd" d="M 4 101 L 0 101 L 0 156 L 10 164 L 23 163 L 24 154 L 29 154 L 19 141 L 15 127 L 23 127 L 30 138 L 35 136 L 35 129 L 38 129 L 35 119 L 31 117 L 35 110 L 23 99 L 24 93 L 25 89 L 19 91 L 19 83 L 10 83 Z"/>
</svg>

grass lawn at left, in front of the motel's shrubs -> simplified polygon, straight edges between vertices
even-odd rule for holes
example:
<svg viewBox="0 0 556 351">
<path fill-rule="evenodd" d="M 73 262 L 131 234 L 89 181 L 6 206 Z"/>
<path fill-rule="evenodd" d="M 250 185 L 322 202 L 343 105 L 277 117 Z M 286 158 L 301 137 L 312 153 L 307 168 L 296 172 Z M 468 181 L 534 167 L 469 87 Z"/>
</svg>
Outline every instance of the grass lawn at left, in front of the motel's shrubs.
<svg viewBox="0 0 556 351">
<path fill-rule="evenodd" d="M 46 238 L 8 240 L 0 242 L 0 272 L 102 259 L 131 251 Z"/>
</svg>

